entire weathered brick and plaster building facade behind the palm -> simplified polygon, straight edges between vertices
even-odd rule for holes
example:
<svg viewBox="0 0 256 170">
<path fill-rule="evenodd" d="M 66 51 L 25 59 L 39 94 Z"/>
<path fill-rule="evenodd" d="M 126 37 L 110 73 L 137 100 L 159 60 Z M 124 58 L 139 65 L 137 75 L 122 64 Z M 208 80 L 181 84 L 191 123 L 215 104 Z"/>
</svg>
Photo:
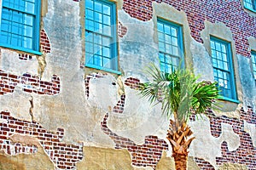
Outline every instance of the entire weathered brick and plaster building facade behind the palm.
<svg viewBox="0 0 256 170">
<path fill-rule="evenodd" d="M 255 0 L 0 4 L 0 169 L 173 169 L 169 121 L 138 94 L 168 57 L 226 92 L 190 118 L 189 169 L 256 169 Z"/>
</svg>

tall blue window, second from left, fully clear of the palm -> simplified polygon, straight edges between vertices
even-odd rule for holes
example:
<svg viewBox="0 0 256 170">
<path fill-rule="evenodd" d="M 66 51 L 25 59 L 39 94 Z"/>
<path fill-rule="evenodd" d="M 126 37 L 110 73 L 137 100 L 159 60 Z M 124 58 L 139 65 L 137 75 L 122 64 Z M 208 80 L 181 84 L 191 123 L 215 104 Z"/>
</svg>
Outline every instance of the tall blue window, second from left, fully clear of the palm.
<svg viewBox="0 0 256 170">
<path fill-rule="evenodd" d="M 115 4 L 85 1 L 85 66 L 117 72 Z"/>
</svg>

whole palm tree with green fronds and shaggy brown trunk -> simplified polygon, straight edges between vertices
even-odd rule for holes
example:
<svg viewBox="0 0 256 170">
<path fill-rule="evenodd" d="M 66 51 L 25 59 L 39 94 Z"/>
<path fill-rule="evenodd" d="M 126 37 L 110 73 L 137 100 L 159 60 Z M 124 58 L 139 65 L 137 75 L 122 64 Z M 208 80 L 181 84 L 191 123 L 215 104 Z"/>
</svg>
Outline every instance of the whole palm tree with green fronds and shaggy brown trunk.
<svg viewBox="0 0 256 170">
<path fill-rule="evenodd" d="M 195 139 L 189 139 L 193 133 L 187 124 L 189 116 L 212 108 L 212 103 L 220 98 L 217 82 L 197 82 L 198 77 L 188 70 L 164 73 L 155 65 L 148 67 L 147 72 L 153 82 L 143 83 L 141 94 L 151 104 L 161 102 L 162 113 L 170 118 L 167 139 L 172 145 L 175 167 L 177 170 L 185 170 L 189 145 Z"/>
</svg>

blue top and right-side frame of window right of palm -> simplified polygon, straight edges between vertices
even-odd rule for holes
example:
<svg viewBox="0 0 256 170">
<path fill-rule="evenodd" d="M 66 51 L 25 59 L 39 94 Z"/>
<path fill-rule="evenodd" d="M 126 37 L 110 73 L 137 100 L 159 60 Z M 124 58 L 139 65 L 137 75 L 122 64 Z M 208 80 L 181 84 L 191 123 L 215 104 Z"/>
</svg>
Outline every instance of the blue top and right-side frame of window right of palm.
<svg viewBox="0 0 256 170">
<path fill-rule="evenodd" d="M 224 43 L 224 45 L 226 45 L 227 47 L 227 58 L 228 58 L 228 66 L 229 66 L 229 71 L 230 71 L 230 87 L 232 90 L 232 99 L 224 97 L 225 100 L 232 100 L 233 102 L 238 101 L 237 100 L 237 94 L 236 94 L 236 78 L 235 78 L 235 74 L 234 74 L 234 66 L 233 66 L 233 56 L 232 56 L 232 52 L 231 52 L 231 45 L 230 42 L 226 42 L 222 39 L 219 39 L 218 37 L 212 37 L 210 36 L 210 41 L 213 40 L 215 42 L 220 42 L 220 43 Z"/>
</svg>

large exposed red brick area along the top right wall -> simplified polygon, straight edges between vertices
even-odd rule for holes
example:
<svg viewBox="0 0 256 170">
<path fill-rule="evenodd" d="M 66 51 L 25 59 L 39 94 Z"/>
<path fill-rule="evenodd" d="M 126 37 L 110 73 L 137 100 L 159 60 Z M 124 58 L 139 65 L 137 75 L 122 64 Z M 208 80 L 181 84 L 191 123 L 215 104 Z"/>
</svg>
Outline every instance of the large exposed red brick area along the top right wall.
<svg viewBox="0 0 256 170">
<path fill-rule="evenodd" d="M 233 33 L 236 53 L 250 56 L 247 38 L 256 37 L 256 20 L 241 8 L 241 1 L 124 0 L 123 8 L 131 17 L 147 21 L 152 19 L 152 2 L 168 3 L 177 10 L 183 10 L 187 14 L 191 36 L 197 42 L 202 42 L 201 31 L 205 27 L 205 20 L 212 23 L 223 22 Z"/>
</svg>

